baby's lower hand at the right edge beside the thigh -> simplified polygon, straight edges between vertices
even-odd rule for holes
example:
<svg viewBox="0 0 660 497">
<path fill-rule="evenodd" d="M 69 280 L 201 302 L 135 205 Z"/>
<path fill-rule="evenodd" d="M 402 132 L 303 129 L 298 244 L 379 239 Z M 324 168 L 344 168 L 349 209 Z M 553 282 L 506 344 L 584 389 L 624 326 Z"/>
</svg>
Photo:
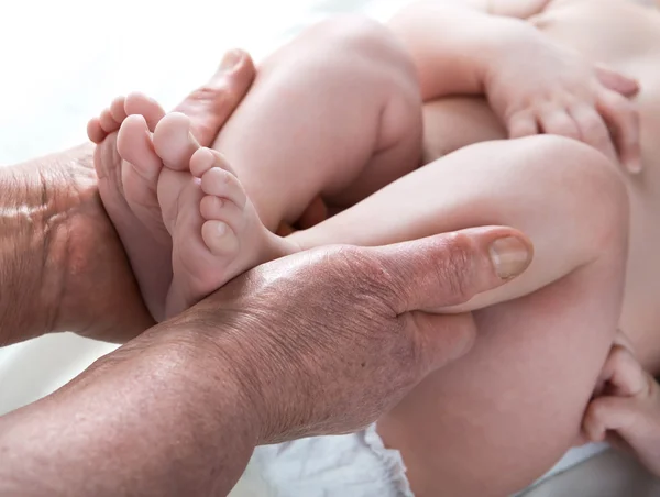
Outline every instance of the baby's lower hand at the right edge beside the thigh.
<svg viewBox="0 0 660 497">
<path fill-rule="evenodd" d="M 623 333 L 601 373 L 582 430 L 593 442 L 628 450 L 660 476 L 660 386 L 645 372 Z"/>
</svg>

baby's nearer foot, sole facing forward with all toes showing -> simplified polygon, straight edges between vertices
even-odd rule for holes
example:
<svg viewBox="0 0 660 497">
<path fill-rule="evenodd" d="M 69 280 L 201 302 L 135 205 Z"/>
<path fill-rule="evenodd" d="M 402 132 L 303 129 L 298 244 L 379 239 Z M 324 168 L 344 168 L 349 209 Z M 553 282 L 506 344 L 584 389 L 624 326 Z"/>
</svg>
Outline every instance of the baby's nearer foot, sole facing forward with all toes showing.
<svg viewBox="0 0 660 497">
<path fill-rule="evenodd" d="M 229 164 L 194 140 L 187 117 L 163 118 L 154 132 L 154 146 L 165 165 L 158 200 L 173 239 L 167 316 L 187 309 L 241 273 L 298 250 L 263 225 Z"/>
</svg>

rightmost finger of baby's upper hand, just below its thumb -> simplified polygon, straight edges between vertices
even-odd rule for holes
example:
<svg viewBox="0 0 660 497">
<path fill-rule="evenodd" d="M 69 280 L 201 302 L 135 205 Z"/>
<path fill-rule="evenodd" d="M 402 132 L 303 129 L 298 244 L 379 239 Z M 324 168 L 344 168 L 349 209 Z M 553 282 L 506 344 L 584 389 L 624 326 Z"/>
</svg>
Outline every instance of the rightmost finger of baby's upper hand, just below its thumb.
<svg viewBox="0 0 660 497">
<path fill-rule="evenodd" d="M 641 172 L 639 113 L 634 102 L 614 91 L 602 91 L 596 108 L 613 131 L 622 163 L 629 173 Z"/>
</svg>

